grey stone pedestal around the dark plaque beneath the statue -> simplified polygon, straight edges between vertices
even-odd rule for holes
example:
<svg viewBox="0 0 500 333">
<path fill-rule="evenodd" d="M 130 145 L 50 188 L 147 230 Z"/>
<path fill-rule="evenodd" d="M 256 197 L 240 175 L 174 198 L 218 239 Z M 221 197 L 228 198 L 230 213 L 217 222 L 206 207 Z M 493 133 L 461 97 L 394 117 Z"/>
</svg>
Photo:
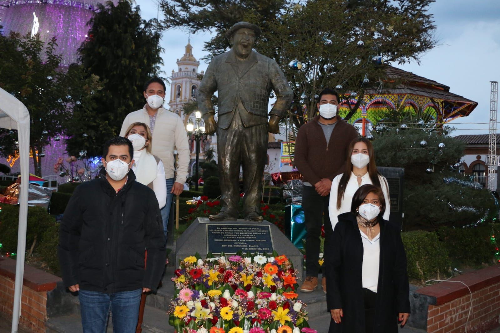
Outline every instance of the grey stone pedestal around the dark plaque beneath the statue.
<svg viewBox="0 0 500 333">
<path fill-rule="evenodd" d="M 224 222 L 213 222 L 207 218 L 198 218 L 180 235 L 175 246 L 175 266 L 179 260 L 192 256 L 196 252 L 204 259 L 207 253 L 207 224 L 211 225 L 268 225 L 270 227 L 272 246 L 278 254 L 284 254 L 293 263 L 293 267 L 298 271 L 297 277 L 302 277 L 303 255 L 293 246 L 289 239 L 274 225 L 267 221 L 262 223 L 249 222 L 245 220 L 234 220 Z M 268 251 L 270 254 L 271 251 Z M 242 250 L 243 253 L 246 250 Z M 250 251 L 253 253 L 254 251 Z"/>
</svg>

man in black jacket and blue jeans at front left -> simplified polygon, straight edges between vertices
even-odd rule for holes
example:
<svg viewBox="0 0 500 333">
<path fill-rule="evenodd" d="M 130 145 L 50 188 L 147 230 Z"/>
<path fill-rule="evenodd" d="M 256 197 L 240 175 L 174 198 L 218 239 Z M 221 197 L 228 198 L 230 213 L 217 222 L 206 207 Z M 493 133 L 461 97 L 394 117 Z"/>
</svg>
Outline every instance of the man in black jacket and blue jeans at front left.
<svg viewBox="0 0 500 333">
<path fill-rule="evenodd" d="M 131 156 L 128 139 L 107 141 L 100 178 L 75 189 L 60 225 L 62 281 L 78 291 L 84 333 L 104 332 L 109 309 L 113 332 L 135 332 L 140 295 L 156 290 L 165 265 L 158 201 L 135 181 Z"/>
</svg>

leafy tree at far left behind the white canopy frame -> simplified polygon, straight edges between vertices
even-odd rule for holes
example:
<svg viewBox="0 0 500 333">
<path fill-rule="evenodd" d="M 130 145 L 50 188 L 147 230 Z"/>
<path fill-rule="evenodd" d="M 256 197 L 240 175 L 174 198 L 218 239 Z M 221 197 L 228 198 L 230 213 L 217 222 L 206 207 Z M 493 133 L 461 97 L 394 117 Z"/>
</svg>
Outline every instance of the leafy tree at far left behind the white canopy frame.
<svg viewBox="0 0 500 333">
<path fill-rule="evenodd" d="M 85 97 L 84 86 L 98 89 L 96 80 L 75 80 L 75 76 L 59 67 L 61 56 L 55 53 L 56 45 L 55 37 L 44 45 L 38 35 L 31 38 L 30 34 L 0 34 L 0 87 L 21 101 L 29 111 L 29 148 L 38 176 L 41 176 L 43 147 L 49 144 L 50 138 L 63 134 L 70 118 L 75 102 L 71 91 L 79 91 L 79 95 Z M 78 66 L 71 71 L 75 75 L 79 72 L 81 67 Z M 15 131 L 1 129 L 0 154 L 15 154 L 16 141 Z"/>
</svg>

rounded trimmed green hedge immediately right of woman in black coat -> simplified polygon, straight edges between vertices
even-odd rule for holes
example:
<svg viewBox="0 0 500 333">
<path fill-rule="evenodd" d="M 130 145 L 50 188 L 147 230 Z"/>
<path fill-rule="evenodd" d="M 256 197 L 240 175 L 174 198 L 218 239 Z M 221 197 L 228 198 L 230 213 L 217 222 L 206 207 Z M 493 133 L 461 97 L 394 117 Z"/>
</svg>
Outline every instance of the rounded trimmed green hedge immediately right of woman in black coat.
<svg viewBox="0 0 500 333">
<path fill-rule="evenodd" d="M 450 260 L 446 246 L 439 242 L 437 234 L 429 231 L 401 233 L 406 252 L 408 278 L 424 282 L 430 278 L 444 278 L 450 271 Z"/>
</svg>

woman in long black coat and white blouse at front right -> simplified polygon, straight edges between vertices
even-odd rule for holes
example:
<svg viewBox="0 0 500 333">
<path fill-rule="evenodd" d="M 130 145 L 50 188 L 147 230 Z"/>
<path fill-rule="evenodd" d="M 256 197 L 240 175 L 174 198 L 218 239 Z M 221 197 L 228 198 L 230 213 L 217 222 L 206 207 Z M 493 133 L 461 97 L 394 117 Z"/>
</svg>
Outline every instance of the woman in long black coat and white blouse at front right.
<svg viewBox="0 0 500 333">
<path fill-rule="evenodd" d="M 384 210 L 381 189 L 366 184 L 354 193 L 351 211 L 338 215 L 325 256 L 328 333 L 397 333 L 397 322 L 406 324 L 406 255 Z"/>
</svg>

